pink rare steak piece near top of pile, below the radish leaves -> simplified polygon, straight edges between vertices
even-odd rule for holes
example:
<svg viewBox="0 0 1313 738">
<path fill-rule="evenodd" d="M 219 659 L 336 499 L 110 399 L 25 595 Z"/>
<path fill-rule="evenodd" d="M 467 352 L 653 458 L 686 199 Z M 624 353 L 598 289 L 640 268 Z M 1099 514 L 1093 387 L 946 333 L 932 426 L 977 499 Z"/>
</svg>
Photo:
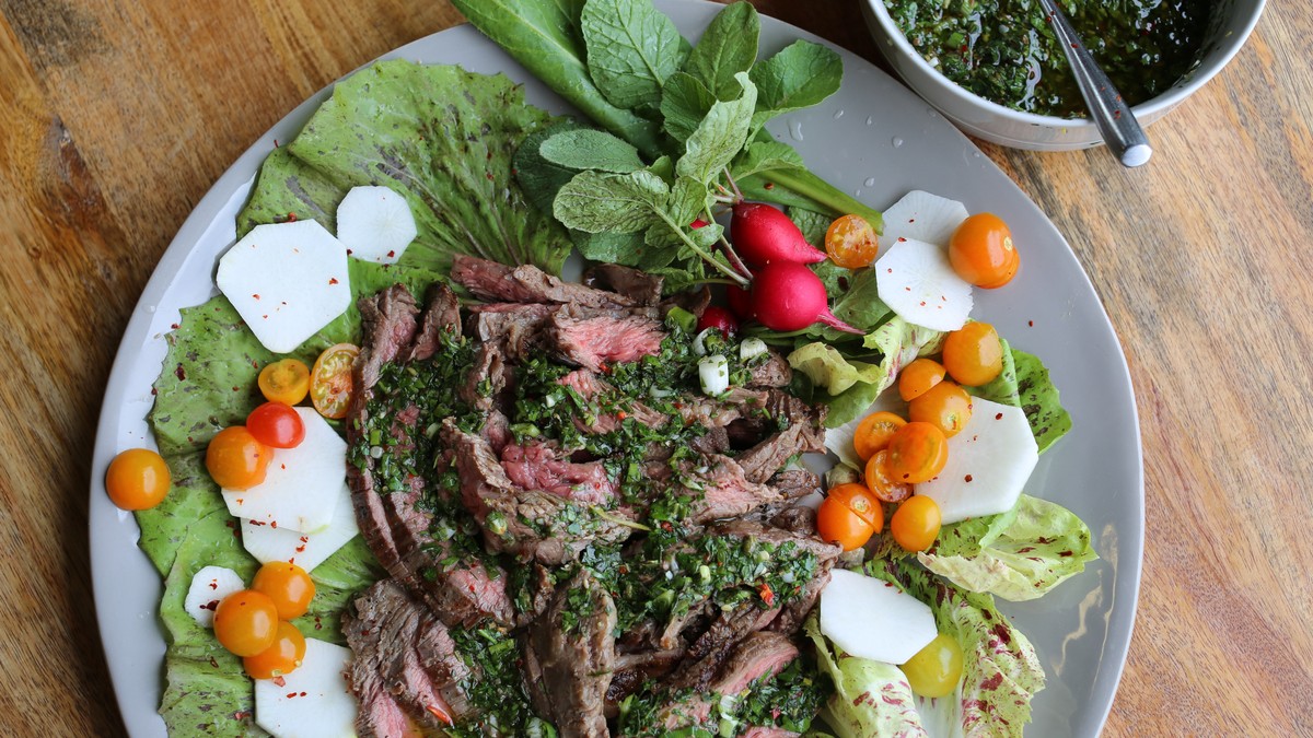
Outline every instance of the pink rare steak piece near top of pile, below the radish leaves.
<svg viewBox="0 0 1313 738">
<path fill-rule="evenodd" d="M 660 322 L 632 314 L 571 314 L 559 310 L 548 319 L 546 335 L 558 355 L 593 372 L 617 361 L 637 361 L 660 353 L 666 331 Z"/>
</svg>

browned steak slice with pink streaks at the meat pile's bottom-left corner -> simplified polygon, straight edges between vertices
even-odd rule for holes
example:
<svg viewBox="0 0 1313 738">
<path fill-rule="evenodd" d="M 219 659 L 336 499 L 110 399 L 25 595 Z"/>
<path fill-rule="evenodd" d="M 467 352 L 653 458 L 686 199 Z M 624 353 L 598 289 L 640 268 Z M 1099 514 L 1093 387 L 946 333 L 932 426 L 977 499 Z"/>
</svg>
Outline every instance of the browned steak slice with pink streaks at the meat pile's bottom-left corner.
<svg viewBox="0 0 1313 738">
<path fill-rule="evenodd" d="M 397 582 L 382 579 L 356 596 L 341 629 L 352 650 L 345 676 L 361 701 L 362 735 L 400 735 L 407 724 L 437 730 L 469 713 L 460 687 L 469 668 L 446 629 Z"/>
</svg>

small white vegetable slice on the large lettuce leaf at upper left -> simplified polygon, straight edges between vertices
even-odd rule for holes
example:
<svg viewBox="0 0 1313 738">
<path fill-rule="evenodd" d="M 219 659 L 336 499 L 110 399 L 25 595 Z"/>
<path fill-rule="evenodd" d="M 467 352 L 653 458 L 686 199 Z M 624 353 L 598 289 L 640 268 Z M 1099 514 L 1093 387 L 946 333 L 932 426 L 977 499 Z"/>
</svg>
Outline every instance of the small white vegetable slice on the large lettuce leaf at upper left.
<svg viewBox="0 0 1313 738">
<path fill-rule="evenodd" d="M 386 186 L 355 186 L 337 205 L 337 240 L 356 259 L 395 264 L 419 228 L 410 204 Z"/>
</svg>

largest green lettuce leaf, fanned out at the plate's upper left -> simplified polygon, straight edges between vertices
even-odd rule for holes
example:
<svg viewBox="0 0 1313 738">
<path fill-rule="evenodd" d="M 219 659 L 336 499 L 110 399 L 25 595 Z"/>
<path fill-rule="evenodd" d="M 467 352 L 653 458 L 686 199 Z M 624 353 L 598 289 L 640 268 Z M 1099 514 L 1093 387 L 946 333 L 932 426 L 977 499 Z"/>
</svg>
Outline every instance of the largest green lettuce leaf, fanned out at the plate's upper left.
<svg viewBox="0 0 1313 738">
<path fill-rule="evenodd" d="M 404 265 L 445 272 L 453 255 L 471 253 L 559 273 L 569 235 L 524 206 L 511 164 L 520 142 L 551 122 L 502 75 L 379 62 L 339 83 L 270 155 L 238 223 L 293 211 L 335 230 L 328 214 L 347 190 L 382 185 L 406 197 L 419 227 Z"/>
</svg>

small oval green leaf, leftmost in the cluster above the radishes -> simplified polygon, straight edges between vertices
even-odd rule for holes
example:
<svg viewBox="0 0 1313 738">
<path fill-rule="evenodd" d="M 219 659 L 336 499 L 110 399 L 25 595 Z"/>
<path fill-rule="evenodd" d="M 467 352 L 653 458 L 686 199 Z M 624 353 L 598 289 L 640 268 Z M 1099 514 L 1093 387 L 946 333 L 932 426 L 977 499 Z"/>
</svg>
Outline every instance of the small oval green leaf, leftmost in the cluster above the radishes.
<svg viewBox="0 0 1313 738">
<path fill-rule="evenodd" d="M 668 197 L 670 186 L 647 171 L 580 172 L 557 193 L 551 211 L 566 227 L 590 234 L 634 232 L 660 222 Z"/>
</svg>

